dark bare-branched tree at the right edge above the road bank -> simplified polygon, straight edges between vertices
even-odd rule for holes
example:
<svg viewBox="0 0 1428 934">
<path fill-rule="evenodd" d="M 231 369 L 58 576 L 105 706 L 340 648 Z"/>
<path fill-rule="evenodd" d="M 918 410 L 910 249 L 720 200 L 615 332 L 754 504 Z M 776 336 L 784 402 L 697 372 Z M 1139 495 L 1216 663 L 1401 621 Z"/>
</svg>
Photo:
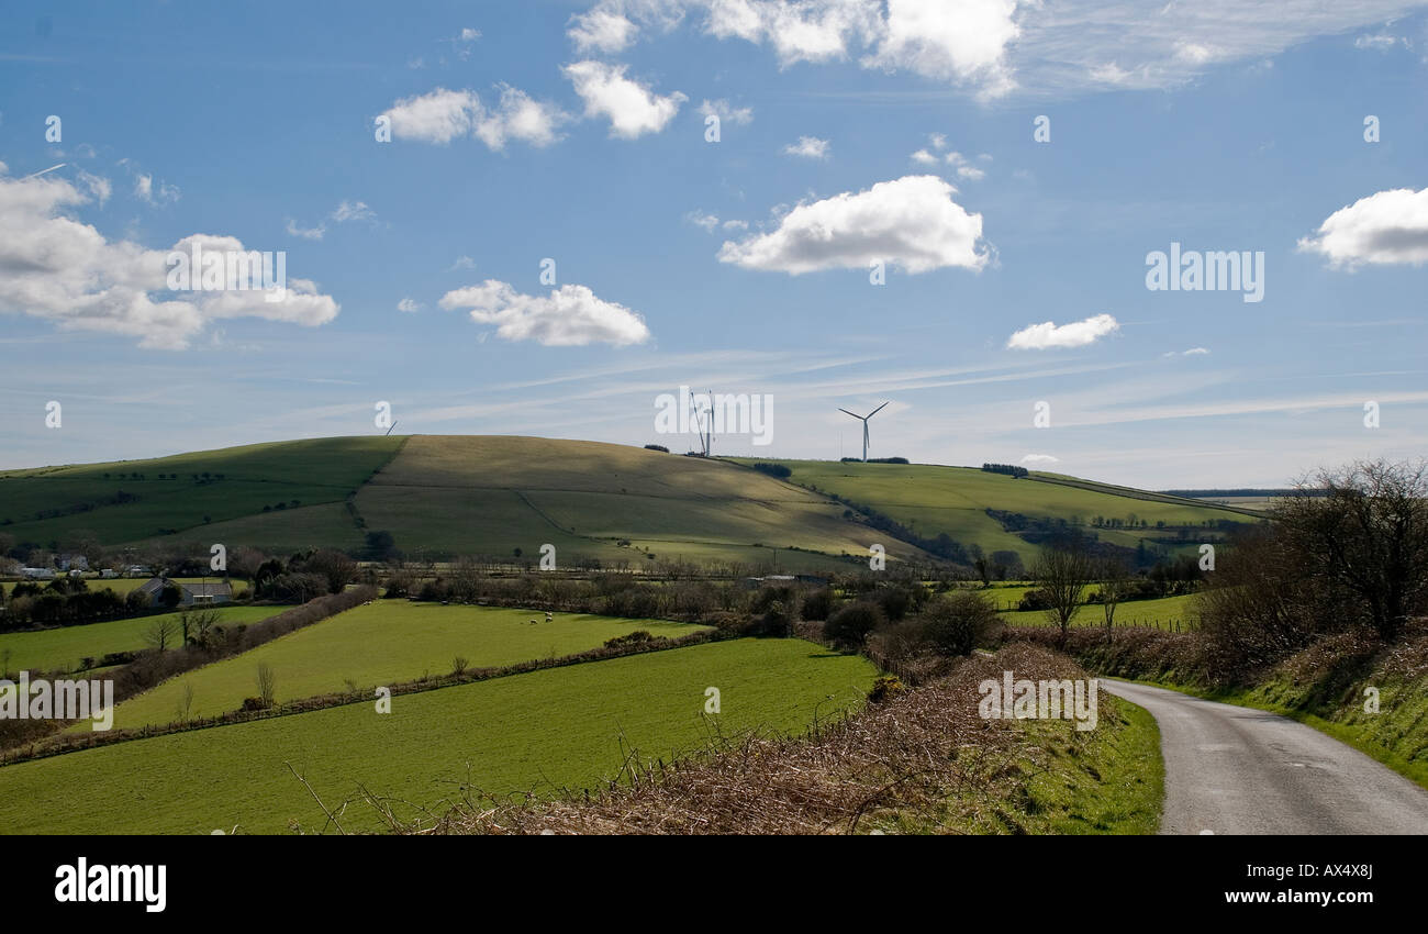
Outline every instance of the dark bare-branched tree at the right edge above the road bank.
<svg viewBox="0 0 1428 934">
<path fill-rule="evenodd" d="M 1428 608 L 1428 463 L 1357 461 L 1297 491 L 1271 511 L 1288 547 L 1397 640 Z"/>
</svg>

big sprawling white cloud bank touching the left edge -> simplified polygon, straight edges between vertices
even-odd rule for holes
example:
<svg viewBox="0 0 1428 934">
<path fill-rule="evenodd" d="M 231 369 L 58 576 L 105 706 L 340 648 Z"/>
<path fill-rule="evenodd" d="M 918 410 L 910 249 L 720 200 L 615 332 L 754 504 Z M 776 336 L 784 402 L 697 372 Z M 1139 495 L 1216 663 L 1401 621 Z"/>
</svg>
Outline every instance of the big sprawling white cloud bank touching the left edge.
<svg viewBox="0 0 1428 934">
<path fill-rule="evenodd" d="M 287 277 L 287 293 L 238 291 L 233 281 L 216 291 L 170 291 L 170 250 L 130 240 L 109 241 L 67 214 L 87 196 L 60 177 L 0 177 L 0 311 L 29 314 L 66 330 L 106 331 L 140 338 L 141 347 L 180 350 L 218 318 L 260 317 L 317 326 L 340 306 L 303 278 Z M 193 234 L 173 246 L 191 254 L 246 251 L 234 237 Z M 227 276 L 224 277 L 227 278 Z"/>
</svg>

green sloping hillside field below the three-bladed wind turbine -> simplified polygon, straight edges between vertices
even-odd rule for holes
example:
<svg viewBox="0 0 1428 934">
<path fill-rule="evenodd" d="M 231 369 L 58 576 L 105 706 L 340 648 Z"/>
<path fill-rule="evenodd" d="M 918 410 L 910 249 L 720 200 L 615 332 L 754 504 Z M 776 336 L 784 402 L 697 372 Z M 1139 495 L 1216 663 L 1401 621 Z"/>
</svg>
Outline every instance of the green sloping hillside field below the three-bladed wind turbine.
<svg viewBox="0 0 1428 934">
<path fill-rule="evenodd" d="M 738 458 L 738 463 L 753 463 Z M 1145 493 L 1128 487 L 1111 487 L 1074 477 L 1048 474 L 1048 480 L 1012 478 L 972 467 L 940 467 L 934 464 L 863 464 L 815 460 L 783 460 L 793 470 L 790 483 L 847 497 L 868 506 L 932 538 L 940 533 L 964 546 L 978 544 L 982 551 L 1015 551 L 1030 564 L 1037 546 L 1002 528 L 987 510 L 1021 513 L 1032 518 L 1080 520 L 1085 531 L 1102 541 L 1134 548 L 1142 540 L 1147 547 L 1152 537 L 1174 537 L 1175 527 L 1205 528 L 1205 521 L 1255 521 L 1238 511 Z M 1091 528 L 1097 517 L 1128 521 L 1145 520 L 1147 528 Z M 1155 528 L 1165 523 L 1171 531 Z M 1188 533 L 1187 533 L 1188 534 Z M 1190 538 L 1190 543 L 1198 538 Z M 1184 547 L 1191 547 L 1190 544 Z"/>
</svg>

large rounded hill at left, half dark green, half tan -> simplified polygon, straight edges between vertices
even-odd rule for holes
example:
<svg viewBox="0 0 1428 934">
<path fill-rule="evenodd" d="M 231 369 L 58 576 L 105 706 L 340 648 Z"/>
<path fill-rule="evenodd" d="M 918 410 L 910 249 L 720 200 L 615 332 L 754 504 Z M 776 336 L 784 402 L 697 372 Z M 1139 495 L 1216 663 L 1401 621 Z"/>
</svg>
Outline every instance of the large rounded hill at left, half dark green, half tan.
<svg viewBox="0 0 1428 934">
<path fill-rule="evenodd" d="M 430 557 L 773 561 L 827 568 L 883 541 L 808 490 L 723 461 L 528 437 L 347 437 L 0 474 L 0 536 L 51 550 L 221 541 Z M 624 543 L 624 544 L 621 544 Z M 884 541 L 895 558 L 927 557 Z M 790 551 L 790 548 L 795 548 Z"/>
</svg>

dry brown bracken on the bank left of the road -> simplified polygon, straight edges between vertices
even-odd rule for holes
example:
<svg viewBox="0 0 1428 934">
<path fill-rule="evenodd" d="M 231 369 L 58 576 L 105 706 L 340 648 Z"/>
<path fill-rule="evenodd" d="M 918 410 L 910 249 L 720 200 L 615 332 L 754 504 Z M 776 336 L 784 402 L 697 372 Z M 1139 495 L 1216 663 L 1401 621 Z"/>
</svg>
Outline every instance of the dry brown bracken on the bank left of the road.
<svg viewBox="0 0 1428 934">
<path fill-rule="evenodd" d="M 1045 745 L 1027 724 L 982 720 L 977 686 L 1000 678 L 1082 677 L 1064 656 L 1015 644 L 962 660 L 945 678 L 870 705 L 811 735 L 741 735 L 675 765 L 627 767 L 585 798 L 466 804 L 427 825 L 393 817 L 398 833 L 446 834 L 848 834 L 874 827 L 944 833 L 1021 833 L 1008 803 L 1045 770 Z M 1070 725 L 1070 724 L 1061 724 Z M 1067 730 L 1064 743 L 1085 741 Z"/>
</svg>

